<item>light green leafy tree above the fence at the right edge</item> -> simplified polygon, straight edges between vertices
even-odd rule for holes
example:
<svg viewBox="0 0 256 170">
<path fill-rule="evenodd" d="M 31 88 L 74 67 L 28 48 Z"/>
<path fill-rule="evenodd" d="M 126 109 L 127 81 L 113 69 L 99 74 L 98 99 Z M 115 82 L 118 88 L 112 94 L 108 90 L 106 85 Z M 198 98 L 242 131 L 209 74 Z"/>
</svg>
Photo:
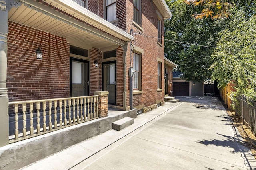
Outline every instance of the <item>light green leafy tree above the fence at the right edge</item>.
<svg viewBox="0 0 256 170">
<path fill-rule="evenodd" d="M 231 80 L 236 82 L 236 94 L 256 92 L 256 18 L 233 8 L 226 29 L 219 34 L 217 48 L 212 54 L 212 80 L 222 88 Z"/>
</svg>

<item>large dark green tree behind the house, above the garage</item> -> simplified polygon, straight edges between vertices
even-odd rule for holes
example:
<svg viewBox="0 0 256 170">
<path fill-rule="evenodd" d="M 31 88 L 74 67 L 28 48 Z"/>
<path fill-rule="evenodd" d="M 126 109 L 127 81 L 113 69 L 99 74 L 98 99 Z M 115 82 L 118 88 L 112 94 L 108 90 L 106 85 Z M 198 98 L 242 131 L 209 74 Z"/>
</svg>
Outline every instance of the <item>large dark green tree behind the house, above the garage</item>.
<svg viewBox="0 0 256 170">
<path fill-rule="evenodd" d="M 214 48 L 203 46 L 215 46 L 217 33 L 222 27 L 211 18 L 192 18 L 195 11 L 202 10 L 201 7 L 188 6 L 183 0 L 166 2 L 173 17 L 164 23 L 165 39 L 171 40 L 165 41 L 165 57 L 178 64 L 178 69 L 187 80 L 202 81 L 210 78 L 210 66 L 213 63 L 210 56 Z"/>
</svg>

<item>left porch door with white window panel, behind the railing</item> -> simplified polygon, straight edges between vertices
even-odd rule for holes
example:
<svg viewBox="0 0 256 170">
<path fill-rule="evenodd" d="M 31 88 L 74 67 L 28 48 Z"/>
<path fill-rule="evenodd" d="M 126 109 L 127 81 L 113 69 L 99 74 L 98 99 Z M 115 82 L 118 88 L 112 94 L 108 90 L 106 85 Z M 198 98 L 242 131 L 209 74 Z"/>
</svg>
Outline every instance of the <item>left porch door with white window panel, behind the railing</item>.
<svg viewBox="0 0 256 170">
<path fill-rule="evenodd" d="M 88 62 L 71 59 L 71 96 L 88 96 L 89 78 L 88 78 Z"/>
</svg>

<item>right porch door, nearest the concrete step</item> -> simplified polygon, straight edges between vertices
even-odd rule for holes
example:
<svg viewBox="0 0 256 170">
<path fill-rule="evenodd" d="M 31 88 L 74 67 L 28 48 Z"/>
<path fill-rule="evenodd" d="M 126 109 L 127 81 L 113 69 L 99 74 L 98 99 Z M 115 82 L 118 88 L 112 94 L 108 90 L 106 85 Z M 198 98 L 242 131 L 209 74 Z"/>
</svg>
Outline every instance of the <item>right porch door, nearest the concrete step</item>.
<svg viewBox="0 0 256 170">
<path fill-rule="evenodd" d="M 116 104 L 116 63 L 104 63 L 102 70 L 103 90 L 108 91 L 108 103 Z"/>
</svg>

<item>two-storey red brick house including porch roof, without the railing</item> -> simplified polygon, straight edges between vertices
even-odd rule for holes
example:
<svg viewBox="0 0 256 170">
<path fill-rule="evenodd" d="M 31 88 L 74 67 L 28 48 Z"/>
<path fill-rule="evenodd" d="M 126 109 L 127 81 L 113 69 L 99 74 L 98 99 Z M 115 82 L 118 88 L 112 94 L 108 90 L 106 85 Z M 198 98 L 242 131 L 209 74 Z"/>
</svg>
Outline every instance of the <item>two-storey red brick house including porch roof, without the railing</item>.
<svg viewBox="0 0 256 170">
<path fill-rule="evenodd" d="M 164 101 L 164 20 L 172 16 L 164 0 L 6 2 L 0 9 L 4 101 L 95 91 L 108 91 L 108 103 L 122 110 L 147 111 Z"/>
</svg>

